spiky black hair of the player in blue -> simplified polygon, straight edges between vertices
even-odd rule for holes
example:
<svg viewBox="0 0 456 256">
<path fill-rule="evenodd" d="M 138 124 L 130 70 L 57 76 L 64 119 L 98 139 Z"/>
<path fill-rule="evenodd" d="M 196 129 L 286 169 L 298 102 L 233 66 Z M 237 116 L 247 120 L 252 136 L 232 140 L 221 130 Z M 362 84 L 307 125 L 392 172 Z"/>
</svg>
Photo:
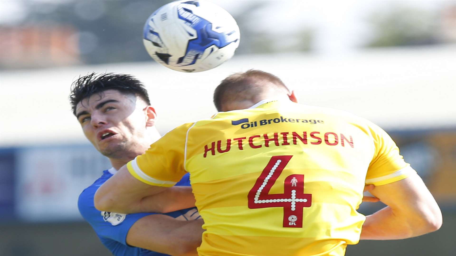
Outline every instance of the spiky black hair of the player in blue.
<svg viewBox="0 0 456 256">
<path fill-rule="evenodd" d="M 95 93 L 106 90 L 117 90 L 124 94 L 134 94 L 150 105 L 149 95 L 144 85 L 132 75 L 95 72 L 79 77 L 70 87 L 70 104 L 76 115 L 76 105 Z"/>
</svg>

